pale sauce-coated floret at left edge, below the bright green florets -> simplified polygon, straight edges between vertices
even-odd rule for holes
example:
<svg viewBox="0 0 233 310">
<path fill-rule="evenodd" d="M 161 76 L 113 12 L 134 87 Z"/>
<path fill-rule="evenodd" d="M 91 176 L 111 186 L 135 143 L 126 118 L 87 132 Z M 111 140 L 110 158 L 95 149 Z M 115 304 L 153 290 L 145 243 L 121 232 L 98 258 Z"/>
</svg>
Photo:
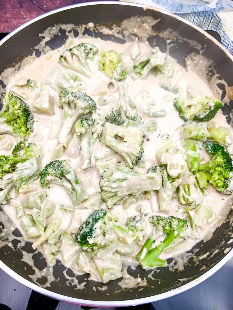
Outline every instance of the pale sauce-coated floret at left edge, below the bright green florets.
<svg viewBox="0 0 233 310">
<path fill-rule="evenodd" d="M 10 200 L 10 192 L 15 188 L 15 193 L 19 193 L 22 185 L 30 184 L 38 178 L 40 173 L 37 159 L 30 158 L 25 162 L 15 165 L 14 171 L 0 179 L 0 205 L 6 205 Z"/>
</svg>

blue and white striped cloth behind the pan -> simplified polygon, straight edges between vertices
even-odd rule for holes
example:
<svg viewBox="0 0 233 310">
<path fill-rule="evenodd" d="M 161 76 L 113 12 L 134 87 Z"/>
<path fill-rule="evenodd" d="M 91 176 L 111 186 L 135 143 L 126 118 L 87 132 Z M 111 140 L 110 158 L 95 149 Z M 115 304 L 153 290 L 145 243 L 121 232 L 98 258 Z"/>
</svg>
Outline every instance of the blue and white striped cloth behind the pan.
<svg viewBox="0 0 233 310">
<path fill-rule="evenodd" d="M 120 0 L 125 1 L 125 0 Z M 219 33 L 222 45 L 233 55 L 232 0 L 127 0 L 174 13 L 204 30 Z"/>
</svg>

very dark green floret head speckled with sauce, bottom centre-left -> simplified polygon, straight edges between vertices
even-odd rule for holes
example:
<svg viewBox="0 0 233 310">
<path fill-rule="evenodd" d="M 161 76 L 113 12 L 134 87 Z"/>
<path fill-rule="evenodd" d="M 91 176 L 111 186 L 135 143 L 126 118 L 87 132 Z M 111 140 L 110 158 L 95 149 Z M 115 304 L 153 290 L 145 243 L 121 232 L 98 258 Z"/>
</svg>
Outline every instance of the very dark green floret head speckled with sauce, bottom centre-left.
<svg viewBox="0 0 233 310">
<path fill-rule="evenodd" d="M 109 224 L 115 223 L 115 217 L 104 209 L 94 210 L 82 224 L 79 232 L 75 235 L 75 241 L 83 248 L 88 250 L 106 245 L 104 241 L 105 230 L 108 229 Z"/>
</svg>

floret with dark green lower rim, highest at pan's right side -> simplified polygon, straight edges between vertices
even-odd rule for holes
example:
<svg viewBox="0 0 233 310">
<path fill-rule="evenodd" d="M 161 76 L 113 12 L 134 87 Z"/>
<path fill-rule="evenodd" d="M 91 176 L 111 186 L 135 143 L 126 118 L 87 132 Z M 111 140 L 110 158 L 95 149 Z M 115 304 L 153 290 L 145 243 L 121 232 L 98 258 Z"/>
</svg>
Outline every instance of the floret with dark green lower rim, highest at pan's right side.
<svg viewBox="0 0 233 310">
<path fill-rule="evenodd" d="M 222 108 L 222 102 L 212 97 L 195 97 L 190 99 L 175 98 L 174 107 L 185 121 L 209 122 Z"/>
</svg>

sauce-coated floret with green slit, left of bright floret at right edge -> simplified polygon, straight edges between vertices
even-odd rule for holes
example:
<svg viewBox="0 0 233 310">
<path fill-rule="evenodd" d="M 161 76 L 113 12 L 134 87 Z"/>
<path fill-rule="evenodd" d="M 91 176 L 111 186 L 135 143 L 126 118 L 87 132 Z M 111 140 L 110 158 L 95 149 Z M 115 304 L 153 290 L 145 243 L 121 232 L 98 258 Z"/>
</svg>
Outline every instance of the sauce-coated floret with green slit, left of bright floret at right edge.
<svg viewBox="0 0 233 310">
<path fill-rule="evenodd" d="M 180 173 L 182 183 L 178 189 L 178 199 L 182 205 L 198 204 L 202 200 L 202 193 L 195 176 L 189 171 L 188 167 Z"/>
</svg>

